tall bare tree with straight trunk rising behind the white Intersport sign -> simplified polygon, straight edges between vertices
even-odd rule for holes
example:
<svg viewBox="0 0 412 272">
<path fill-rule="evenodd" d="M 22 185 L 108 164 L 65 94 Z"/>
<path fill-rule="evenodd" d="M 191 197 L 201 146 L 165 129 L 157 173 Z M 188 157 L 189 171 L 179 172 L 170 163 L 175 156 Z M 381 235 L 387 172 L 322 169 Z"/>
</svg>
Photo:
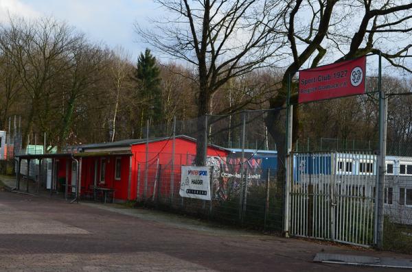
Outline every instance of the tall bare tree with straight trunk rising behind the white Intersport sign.
<svg viewBox="0 0 412 272">
<path fill-rule="evenodd" d="M 172 14 L 153 21 L 154 30 L 136 25 L 141 39 L 170 58 L 192 64 L 198 86 L 196 164 L 203 164 L 205 121 L 211 97 L 229 79 L 270 64 L 282 54 L 282 17 L 276 1 L 157 0 Z"/>
</svg>

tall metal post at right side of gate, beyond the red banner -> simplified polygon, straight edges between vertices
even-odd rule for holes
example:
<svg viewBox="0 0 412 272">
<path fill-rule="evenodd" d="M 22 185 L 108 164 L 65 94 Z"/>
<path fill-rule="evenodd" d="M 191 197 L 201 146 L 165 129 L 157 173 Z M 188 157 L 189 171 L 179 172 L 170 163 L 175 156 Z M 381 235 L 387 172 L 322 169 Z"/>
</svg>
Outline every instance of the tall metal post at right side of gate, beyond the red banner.
<svg viewBox="0 0 412 272">
<path fill-rule="evenodd" d="M 378 165 L 376 167 L 376 201 L 375 201 L 375 231 L 374 243 L 382 249 L 383 245 L 383 202 L 385 190 L 385 156 L 387 144 L 387 97 L 382 90 L 382 53 L 379 52 L 378 70 L 378 92 L 379 92 L 379 153 Z"/>
</svg>

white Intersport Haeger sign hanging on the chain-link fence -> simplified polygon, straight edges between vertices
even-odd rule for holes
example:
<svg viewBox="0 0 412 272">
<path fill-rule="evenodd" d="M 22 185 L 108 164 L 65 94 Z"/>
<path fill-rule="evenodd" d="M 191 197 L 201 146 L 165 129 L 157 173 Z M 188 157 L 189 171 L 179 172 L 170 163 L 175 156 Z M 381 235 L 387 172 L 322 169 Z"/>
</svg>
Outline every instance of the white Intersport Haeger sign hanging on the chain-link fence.
<svg viewBox="0 0 412 272">
<path fill-rule="evenodd" d="M 210 200 L 210 171 L 207 166 L 182 166 L 181 197 Z"/>
</svg>

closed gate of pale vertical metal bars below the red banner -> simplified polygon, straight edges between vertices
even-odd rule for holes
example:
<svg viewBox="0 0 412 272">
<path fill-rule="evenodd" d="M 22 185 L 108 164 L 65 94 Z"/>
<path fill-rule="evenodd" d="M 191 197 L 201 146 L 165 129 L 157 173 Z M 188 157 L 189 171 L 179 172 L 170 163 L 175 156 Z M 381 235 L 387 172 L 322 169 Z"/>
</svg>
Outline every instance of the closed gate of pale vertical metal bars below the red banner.
<svg viewBox="0 0 412 272">
<path fill-rule="evenodd" d="M 376 156 L 365 152 L 292 156 L 290 234 L 372 245 Z"/>
</svg>

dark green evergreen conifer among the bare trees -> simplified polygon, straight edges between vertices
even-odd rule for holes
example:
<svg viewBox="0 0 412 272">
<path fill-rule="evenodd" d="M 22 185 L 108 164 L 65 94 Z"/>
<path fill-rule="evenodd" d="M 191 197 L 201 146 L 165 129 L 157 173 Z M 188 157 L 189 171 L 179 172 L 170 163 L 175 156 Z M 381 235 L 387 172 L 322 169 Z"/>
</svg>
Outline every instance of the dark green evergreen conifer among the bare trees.
<svg viewBox="0 0 412 272">
<path fill-rule="evenodd" d="M 146 49 L 139 55 L 135 77 L 139 82 L 139 99 L 145 101 L 141 109 L 141 126 L 148 119 L 150 123 L 159 123 L 163 112 L 161 107 L 161 78 L 156 58 Z"/>
</svg>

